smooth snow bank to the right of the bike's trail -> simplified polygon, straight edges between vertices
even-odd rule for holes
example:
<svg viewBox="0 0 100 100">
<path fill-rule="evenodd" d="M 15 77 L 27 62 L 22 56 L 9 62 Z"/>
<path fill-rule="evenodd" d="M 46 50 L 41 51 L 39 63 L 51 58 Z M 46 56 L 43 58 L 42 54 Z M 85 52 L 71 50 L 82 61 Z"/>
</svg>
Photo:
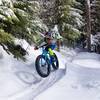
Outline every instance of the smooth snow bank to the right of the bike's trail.
<svg viewBox="0 0 100 100">
<path fill-rule="evenodd" d="M 66 75 L 34 100 L 100 100 L 100 55 L 79 53 L 66 67 Z"/>
</svg>

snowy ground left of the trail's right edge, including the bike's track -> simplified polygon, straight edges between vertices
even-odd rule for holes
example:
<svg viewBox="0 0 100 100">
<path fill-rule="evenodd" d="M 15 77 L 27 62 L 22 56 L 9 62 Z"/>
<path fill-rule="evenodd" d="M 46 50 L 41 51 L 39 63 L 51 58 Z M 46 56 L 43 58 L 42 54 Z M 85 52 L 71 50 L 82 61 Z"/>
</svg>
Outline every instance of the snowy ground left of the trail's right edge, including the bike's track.
<svg viewBox="0 0 100 100">
<path fill-rule="evenodd" d="M 24 44 L 24 48 L 27 48 L 28 44 Z M 34 51 L 34 47 L 29 47 L 28 52 L 27 61 L 23 62 L 9 56 L 0 47 L 0 100 L 32 100 L 64 76 L 68 60 L 64 55 L 55 51 L 60 68 L 43 79 L 37 74 L 34 65 L 41 50 Z"/>
</svg>

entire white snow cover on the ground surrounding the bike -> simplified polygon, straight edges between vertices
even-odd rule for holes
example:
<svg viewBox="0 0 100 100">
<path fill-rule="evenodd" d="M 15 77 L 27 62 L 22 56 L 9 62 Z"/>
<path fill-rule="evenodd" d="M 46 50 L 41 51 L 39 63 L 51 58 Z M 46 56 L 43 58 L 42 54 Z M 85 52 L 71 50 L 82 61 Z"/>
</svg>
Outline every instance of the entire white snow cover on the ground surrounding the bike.
<svg viewBox="0 0 100 100">
<path fill-rule="evenodd" d="M 43 79 L 34 67 L 41 49 L 34 51 L 34 46 L 25 41 L 22 44 L 28 47 L 26 62 L 7 55 L 0 47 L 0 100 L 100 100 L 99 54 L 70 48 L 54 51 L 60 69 Z"/>
</svg>

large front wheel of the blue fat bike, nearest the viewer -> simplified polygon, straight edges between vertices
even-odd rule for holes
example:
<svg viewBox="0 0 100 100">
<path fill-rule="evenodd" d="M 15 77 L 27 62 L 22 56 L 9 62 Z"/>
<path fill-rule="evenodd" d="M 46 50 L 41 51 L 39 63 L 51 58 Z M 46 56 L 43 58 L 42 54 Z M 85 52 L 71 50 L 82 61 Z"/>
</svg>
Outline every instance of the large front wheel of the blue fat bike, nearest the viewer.
<svg viewBox="0 0 100 100">
<path fill-rule="evenodd" d="M 47 60 L 43 55 L 39 55 L 35 61 L 35 67 L 38 74 L 45 78 L 50 74 L 50 64 L 48 64 Z"/>
</svg>

